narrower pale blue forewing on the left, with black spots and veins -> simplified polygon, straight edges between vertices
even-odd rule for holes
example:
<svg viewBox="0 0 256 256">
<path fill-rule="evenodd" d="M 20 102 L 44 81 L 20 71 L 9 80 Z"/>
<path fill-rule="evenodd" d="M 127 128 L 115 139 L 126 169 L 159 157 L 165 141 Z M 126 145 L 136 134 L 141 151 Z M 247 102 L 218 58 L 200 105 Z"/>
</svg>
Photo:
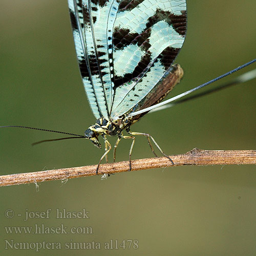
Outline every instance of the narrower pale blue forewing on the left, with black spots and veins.
<svg viewBox="0 0 256 256">
<path fill-rule="evenodd" d="M 111 44 L 117 2 L 69 0 L 80 72 L 96 118 L 108 118 L 112 104 Z"/>
</svg>

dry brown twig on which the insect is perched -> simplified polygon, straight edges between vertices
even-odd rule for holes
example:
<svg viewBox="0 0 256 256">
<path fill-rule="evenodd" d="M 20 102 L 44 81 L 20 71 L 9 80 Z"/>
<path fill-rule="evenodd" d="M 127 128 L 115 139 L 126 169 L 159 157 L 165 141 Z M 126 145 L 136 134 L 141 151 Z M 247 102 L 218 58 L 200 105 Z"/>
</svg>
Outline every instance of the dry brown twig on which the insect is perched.
<svg viewBox="0 0 256 256">
<path fill-rule="evenodd" d="M 180 165 L 226 165 L 256 164 L 256 150 L 199 150 L 194 148 L 186 154 L 170 156 L 174 165 L 166 157 L 138 159 L 132 161 L 132 170 L 144 170 Z M 22 173 L 0 176 L 0 186 L 36 183 L 49 180 L 72 179 L 96 175 L 97 165 L 44 170 L 34 173 Z M 129 161 L 101 164 L 98 175 L 127 172 Z"/>
</svg>

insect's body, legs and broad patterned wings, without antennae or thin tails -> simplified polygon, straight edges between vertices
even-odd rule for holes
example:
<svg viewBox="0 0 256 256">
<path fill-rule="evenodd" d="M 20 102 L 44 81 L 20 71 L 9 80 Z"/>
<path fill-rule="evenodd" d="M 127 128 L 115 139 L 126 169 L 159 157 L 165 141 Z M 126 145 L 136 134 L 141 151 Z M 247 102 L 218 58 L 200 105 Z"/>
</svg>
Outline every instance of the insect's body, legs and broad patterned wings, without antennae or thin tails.
<svg viewBox="0 0 256 256">
<path fill-rule="evenodd" d="M 130 131 L 145 113 L 130 116 L 160 102 L 180 81 L 183 71 L 172 66 L 186 33 L 185 0 L 69 0 L 78 65 L 91 110 L 97 121 L 84 133 L 105 153 L 112 146 L 106 135 L 121 140 L 146 136 L 163 153 L 150 134 Z M 123 135 L 126 131 L 129 136 Z M 156 155 L 156 154 L 155 154 Z M 99 165 L 98 165 L 99 167 Z M 98 168 L 97 168 L 98 172 Z"/>
</svg>

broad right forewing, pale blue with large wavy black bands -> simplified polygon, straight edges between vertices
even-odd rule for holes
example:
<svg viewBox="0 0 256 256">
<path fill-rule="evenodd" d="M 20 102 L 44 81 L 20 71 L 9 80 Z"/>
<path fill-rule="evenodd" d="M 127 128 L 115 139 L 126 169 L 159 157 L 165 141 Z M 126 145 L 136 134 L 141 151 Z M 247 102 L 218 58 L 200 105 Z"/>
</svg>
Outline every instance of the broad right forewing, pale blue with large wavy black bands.
<svg viewBox="0 0 256 256">
<path fill-rule="evenodd" d="M 111 117 L 133 108 L 169 72 L 185 32 L 185 0 L 121 1 L 113 34 Z"/>
</svg>

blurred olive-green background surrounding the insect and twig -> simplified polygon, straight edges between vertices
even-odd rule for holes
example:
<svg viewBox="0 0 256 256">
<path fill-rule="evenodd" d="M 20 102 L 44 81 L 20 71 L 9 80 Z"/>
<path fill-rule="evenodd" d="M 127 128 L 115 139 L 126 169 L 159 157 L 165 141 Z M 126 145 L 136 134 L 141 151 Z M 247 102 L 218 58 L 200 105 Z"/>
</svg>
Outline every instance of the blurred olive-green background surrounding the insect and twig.
<svg viewBox="0 0 256 256">
<path fill-rule="evenodd" d="M 176 62 L 185 71 L 171 96 L 255 58 L 255 0 L 187 1 L 188 31 Z M 67 1 L 1 1 L 0 124 L 82 134 L 95 122 L 77 66 Z M 218 82 L 238 76 L 239 73 Z M 254 65 L 255 68 L 255 65 Z M 217 84 L 216 84 L 217 85 Z M 194 147 L 256 149 L 255 80 L 146 115 L 133 131 L 151 133 L 167 154 Z M 164 125 L 163 125 L 164 123 Z M 23 129 L 0 131 L 1 174 L 97 164 L 103 154 L 87 140 L 31 143 L 58 135 Z M 113 143 L 114 140 L 111 139 Z M 121 141 L 127 160 L 131 141 Z M 137 138 L 133 159 L 152 157 Z M 1 188 L 1 254 L 6 242 L 60 242 L 37 255 L 255 255 L 255 166 L 182 166 Z M 52 209 L 49 219 L 26 211 Z M 90 219 L 56 219 L 56 209 L 90 212 Z M 12 209 L 13 218 L 5 211 Z M 22 216 L 17 216 L 21 214 Z M 7 234 L 4 227 L 92 227 L 92 234 Z M 138 249 L 104 243 L 138 240 Z M 66 242 L 99 242 L 101 249 L 66 249 Z M 127 244 L 126 244 L 127 245 Z"/>
</svg>

